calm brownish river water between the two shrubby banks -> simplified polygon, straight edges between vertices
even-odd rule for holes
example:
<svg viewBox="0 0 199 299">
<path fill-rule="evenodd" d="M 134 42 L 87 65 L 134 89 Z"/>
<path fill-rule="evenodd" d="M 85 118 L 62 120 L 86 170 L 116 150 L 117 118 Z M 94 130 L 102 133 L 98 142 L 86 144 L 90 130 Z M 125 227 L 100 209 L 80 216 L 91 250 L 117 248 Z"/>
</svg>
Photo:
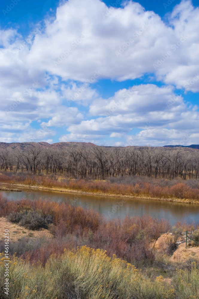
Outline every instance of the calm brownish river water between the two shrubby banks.
<svg viewBox="0 0 199 299">
<path fill-rule="evenodd" d="M 199 205 L 183 204 L 178 202 L 164 202 L 146 199 L 129 199 L 121 197 L 82 195 L 48 190 L 34 190 L 20 188 L 22 192 L 0 191 L 7 199 L 48 199 L 51 201 L 68 201 L 84 208 L 92 208 L 100 214 L 110 218 L 124 218 L 126 215 L 142 216 L 149 214 L 158 219 L 168 219 L 173 225 L 175 222 L 199 222 Z M 123 201 L 123 202 L 122 202 Z"/>
</svg>

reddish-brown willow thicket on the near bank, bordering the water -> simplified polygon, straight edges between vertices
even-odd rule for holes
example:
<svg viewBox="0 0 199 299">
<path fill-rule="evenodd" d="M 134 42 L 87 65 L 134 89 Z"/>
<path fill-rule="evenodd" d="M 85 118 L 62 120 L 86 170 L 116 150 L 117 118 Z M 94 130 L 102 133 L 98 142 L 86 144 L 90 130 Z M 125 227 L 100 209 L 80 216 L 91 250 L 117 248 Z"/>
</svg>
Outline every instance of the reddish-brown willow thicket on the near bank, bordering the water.
<svg viewBox="0 0 199 299">
<path fill-rule="evenodd" d="M 53 218 L 50 231 L 55 238 L 42 242 L 39 247 L 33 246 L 22 254 L 34 263 L 40 260 L 45 264 L 51 254 L 60 254 L 64 248 L 72 249 L 82 245 L 104 249 L 109 256 L 116 254 L 129 262 L 152 263 L 154 255 L 149 246 L 150 241 L 171 229 L 167 220 L 157 220 L 147 215 L 107 220 L 93 210 L 68 203 L 41 199 L 8 201 L 0 196 L 0 216 L 26 209 L 38 210 Z"/>
</svg>

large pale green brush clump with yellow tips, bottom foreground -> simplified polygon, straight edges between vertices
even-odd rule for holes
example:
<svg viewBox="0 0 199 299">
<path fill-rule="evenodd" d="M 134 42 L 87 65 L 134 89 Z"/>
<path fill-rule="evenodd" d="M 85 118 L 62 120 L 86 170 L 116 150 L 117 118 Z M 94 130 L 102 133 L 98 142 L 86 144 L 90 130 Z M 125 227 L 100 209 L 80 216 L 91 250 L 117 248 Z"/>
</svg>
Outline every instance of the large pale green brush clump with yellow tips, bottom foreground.
<svg viewBox="0 0 199 299">
<path fill-rule="evenodd" d="M 0 263 L 3 284 L 4 261 Z M 152 282 L 130 263 L 110 258 L 100 249 L 86 246 L 51 256 L 43 267 L 12 257 L 10 262 L 10 299 L 127 299 L 174 298 L 175 290 L 159 279 Z M 1 290 L 1 298 L 6 298 Z"/>
</svg>

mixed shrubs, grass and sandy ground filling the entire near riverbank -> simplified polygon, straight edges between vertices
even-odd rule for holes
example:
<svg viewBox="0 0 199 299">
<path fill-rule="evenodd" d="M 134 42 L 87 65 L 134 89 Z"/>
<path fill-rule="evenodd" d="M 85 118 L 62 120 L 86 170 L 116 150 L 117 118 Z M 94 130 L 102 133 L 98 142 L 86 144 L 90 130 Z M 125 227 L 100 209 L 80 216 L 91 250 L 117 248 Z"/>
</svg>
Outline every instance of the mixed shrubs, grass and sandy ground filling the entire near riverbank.
<svg viewBox="0 0 199 299">
<path fill-rule="evenodd" d="M 199 239 L 198 224 L 151 216 L 107 220 L 91 209 L 0 194 L 0 220 L 9 230 L 9 295 L 3 299 L 187 299 L 199 296 L 198 247 L 185 259 L 182 232 Z M 21 236 L 18 229 L 22 228 Z M 4 228 L 2 228 L 4 229 Z M 23 237 L 27 230 L 30 234 Z M 52 237 L 33 237 L 48 231 Z M 15 241 L 14 241 L 15 237 Z M 179 245 L 178 240 L 182 240 Z M 95 248 L 95 249 L 94 249 Z M 0 240 L 0 252 L 4 240 Z M 191 254 L 193 253 L 193 254 Z M 0 283 L 4 283 L 0 254 Z"/>
</svg>

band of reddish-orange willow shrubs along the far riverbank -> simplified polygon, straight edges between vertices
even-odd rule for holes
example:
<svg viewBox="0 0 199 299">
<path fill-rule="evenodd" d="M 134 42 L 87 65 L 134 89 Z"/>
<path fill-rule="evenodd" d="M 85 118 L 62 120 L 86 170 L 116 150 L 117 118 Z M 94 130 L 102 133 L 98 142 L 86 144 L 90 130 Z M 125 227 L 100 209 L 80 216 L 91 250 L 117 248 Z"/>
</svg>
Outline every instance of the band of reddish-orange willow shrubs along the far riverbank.
<svg viewBox="0 0 199 299">
<path fill-rule="evenodd" d="M 50 179 L 49 176 L 38 175 L 1 175 L 1 182 L 22 183 L 25 185 L 68 188 L 91 193 L 105 193 L 127 196 L 146 196 L 153 198 L 177 198 L 199 200 L 199 188 L 193 189 L 185 183 L 161 187 L 157 184 L 142 182 L 138 184 L 118 184 L 110 181 L 62 180 Z"/>
</svg>

